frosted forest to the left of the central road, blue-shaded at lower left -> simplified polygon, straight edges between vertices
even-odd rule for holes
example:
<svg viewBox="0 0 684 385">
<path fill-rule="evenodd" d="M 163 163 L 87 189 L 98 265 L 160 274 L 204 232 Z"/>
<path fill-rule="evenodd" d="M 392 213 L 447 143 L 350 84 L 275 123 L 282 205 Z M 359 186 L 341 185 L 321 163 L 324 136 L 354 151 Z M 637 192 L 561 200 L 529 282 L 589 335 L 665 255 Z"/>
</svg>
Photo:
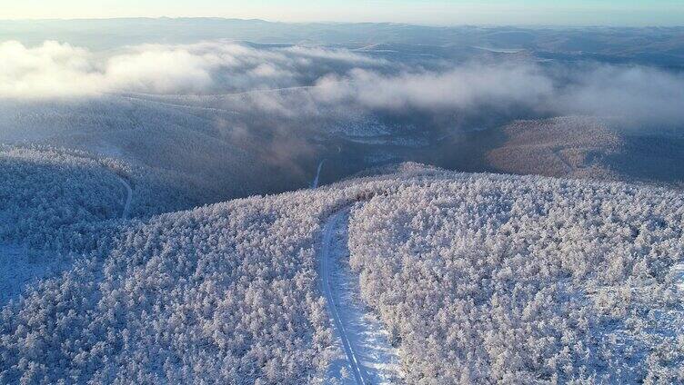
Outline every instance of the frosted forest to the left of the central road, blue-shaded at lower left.
<svg viewBox="0 0 684 385">
<path fill-rule="evenodd" d="M 319 219 L 359 189 L 219 203 L 96 233 L 113 242 L 5 307 L 0 382 L 316 379 L 331 346 Z"/>
</svg>

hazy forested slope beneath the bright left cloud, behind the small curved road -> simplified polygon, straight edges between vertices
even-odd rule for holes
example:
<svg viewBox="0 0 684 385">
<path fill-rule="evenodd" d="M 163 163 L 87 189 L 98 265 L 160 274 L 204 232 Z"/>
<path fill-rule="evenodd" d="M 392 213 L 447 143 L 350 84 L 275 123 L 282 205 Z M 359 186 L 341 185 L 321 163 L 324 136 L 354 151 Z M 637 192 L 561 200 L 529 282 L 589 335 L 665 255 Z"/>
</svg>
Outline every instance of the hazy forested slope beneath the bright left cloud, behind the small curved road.
<svg viewBox="0 0 684 385">
<path fill-rule="evenodd" d="M 160 213 L 306 186 L 308 175 L 298 168 L 297 156 L 311 150 L 298 143 L 295 129 L 277 132 L 274 120 L 143 96 L 78 103 L 0 100 L 0 143 L 43 143 L 127 163 L 142 183 L 180 196 L 180 206 L 166 204 L 173 200 L 166 191 L 157 191 L 165 202 L 146 202 L 144 210 L 133 202 L 134 214 Z"/>
</svg>

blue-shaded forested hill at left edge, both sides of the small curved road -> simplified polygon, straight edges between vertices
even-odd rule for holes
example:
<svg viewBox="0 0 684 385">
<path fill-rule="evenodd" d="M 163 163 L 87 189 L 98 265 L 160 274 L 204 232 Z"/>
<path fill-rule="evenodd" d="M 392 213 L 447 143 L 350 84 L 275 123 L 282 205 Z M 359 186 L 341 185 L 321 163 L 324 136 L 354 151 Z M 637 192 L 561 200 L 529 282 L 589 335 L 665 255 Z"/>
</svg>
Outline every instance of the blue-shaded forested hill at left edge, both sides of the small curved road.
<svg viewBox="0 0 684 385">
<path fill-rule="evenodd" d="M 0 146 L 0 243 L 77 252 L 93 226 L 149 217 L 194 201 L 162 171 L 45 145 Z"/>
</svg>

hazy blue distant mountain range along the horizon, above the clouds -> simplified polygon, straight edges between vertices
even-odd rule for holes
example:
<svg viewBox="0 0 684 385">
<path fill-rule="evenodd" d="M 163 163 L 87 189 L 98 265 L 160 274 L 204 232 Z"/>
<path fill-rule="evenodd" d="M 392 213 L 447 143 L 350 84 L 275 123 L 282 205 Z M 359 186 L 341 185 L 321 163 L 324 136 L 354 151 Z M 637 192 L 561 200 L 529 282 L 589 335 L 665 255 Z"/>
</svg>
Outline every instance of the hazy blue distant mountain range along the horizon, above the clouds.
<svg viewBox="0 0 684 385">
<path fill-rule="evenodd" d="M 94 49 L 123 44 L 194 43 L 230 39 L 261 44 L 340 44 L 363 49 L 448 51 L 524 50 L 538 57 L 576 61 L 684 66 L 684 26 L 681 27 L 437 27 L 388 23 L 274 23 L 223 18 L 116 18 L 78 20 L 0 20 L 0 41 L 39 44 L 66 41 Z M 397 45 L 398 44 L 398 45 Z M 403 44 L 403 46 L 402 46 Z M 380 46 L 377 46 L 380 48 Z M 430 54 L 434 54 L 430 52 Z"/>
</svg>

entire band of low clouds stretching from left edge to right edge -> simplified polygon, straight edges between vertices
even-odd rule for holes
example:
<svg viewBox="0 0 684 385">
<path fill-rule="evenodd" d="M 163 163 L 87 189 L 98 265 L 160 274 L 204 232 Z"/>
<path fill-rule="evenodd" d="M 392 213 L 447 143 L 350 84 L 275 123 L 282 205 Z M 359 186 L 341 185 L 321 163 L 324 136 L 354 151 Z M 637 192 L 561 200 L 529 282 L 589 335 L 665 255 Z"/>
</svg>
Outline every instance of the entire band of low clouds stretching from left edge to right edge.
<svg viewBox="0 0 684 385">
<path fill-rule="evenodd" d="M 349 50 L 253 47 L 226 42 L 140 45 L 96 54 L 69 44 L 0 44 L 0 98 L 45 99 L 118 92 L 230 94 L 313 85 L 306 93 L 253 94 L 249 107 L 279 114 L 330 109 L 620 116 L 684 121 L 684 76 L 656 68 L 531 62 L 454 64 L 440 71 Z"/>
</svg>

